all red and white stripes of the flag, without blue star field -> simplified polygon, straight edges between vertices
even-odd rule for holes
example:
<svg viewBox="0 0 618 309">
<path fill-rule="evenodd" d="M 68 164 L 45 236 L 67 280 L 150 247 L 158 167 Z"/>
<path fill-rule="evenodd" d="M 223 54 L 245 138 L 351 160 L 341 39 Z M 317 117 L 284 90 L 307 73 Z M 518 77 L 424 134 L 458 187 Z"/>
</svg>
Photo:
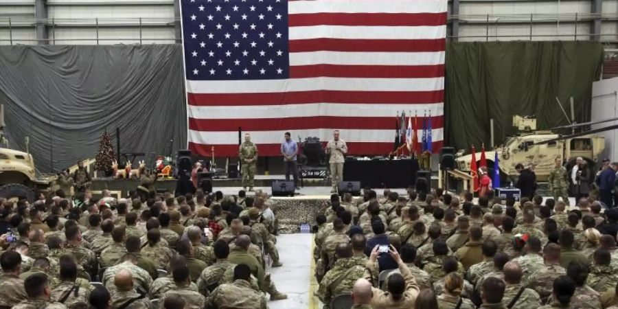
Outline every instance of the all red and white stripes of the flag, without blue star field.
<svg viewBox="0 0 618 309">
<path fill-rule="evenodd" d="M 420 123 L 431 115 L 438 152 L 446 8 L 447 0 L 288 1 L 289 78 L 187 80 L 189 148 L 236 156 L 241 127 L 261 156 L 276 156 L 286 131 L 328 141 L 339 129 L 350 155 L 386 155 L 405 111 Z"/>
</svg>

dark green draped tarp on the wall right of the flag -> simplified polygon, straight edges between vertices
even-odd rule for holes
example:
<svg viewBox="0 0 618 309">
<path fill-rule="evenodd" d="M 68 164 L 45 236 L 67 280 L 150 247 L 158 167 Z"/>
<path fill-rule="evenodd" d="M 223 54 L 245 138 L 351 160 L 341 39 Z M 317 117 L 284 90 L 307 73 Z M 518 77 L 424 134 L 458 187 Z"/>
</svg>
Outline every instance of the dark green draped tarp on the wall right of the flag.
<svg viewBox="0 0 618 309">
<path fill-rule="evenodd" d="M 513 115 L 536 115 L 538 129 L 590 117 L 592 82 L 599 80 L 603 46 L 592 41 L 470 42 L 446 47 L 446 146 L 470 150 L 514 135 Z M 565 132 L 566 133 L 566 132 Z"/>
</svg>

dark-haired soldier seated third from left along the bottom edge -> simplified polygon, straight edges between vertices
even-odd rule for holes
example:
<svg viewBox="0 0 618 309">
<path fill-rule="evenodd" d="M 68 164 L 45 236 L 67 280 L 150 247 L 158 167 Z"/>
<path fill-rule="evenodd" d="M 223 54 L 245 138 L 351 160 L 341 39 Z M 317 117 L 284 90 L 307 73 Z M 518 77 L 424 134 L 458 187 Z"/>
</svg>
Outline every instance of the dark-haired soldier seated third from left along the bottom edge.
<svg viewBox="0 0 618 309">
<path fill-rule="evenodd" d="M 77 277 L 77 264 L 73 261 L 62 262 L 60 268 L 60 284 L 52 289 L 52 300 L 71 309 L 88 308 L 90 292 L 94 287 Z"/>
</svg>

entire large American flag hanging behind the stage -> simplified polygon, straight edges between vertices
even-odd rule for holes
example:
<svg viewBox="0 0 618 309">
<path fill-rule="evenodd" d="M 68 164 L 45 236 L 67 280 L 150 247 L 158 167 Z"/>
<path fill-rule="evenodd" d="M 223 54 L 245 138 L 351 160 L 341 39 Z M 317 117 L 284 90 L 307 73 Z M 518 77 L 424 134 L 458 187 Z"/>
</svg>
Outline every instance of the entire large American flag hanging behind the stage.
<svg viewBox="0 0 618 309">
<path fill-rule="evenodd" d="M 442 147 L 447 0 L 181 4 L 199 155 L 238 155 L 239 128 L 260 155 L 279 155 L 286 131 L 325 142 L 334 129 L 350 154 L 386 155 L 398 111 L 432 117 L 433 150 Z"/>
</svg>

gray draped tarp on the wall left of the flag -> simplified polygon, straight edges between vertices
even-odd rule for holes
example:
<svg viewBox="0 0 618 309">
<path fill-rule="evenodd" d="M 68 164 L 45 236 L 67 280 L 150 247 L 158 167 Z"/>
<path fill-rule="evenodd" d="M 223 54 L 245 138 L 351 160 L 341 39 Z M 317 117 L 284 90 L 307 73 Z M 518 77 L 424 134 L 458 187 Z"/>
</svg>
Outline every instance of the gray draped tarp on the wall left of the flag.
<svg viewBox="0 0 618 309">
<path fill-rule="evenodd" d="M 41 172 L 94 158 L 105 129 L 115 146 L 120 128 L 121 152 L 150 158 L 185 148 L 182 61 L 181 45 L 2 46 L 9 146 L 25 150 L 29 136 Z"/>
</svg>

